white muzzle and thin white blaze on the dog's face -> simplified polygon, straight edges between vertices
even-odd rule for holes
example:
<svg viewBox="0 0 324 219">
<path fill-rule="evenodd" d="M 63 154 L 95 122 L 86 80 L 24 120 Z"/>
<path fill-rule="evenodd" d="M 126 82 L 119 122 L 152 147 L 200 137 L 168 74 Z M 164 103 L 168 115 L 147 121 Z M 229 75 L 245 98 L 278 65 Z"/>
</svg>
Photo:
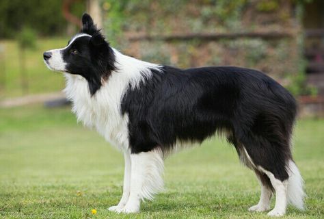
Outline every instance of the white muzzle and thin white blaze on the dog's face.
<svg viewBox="0 0 324 219">
<path fill-rule="evenodd" d="M 83 36 L 89 36 L 91 37 L 89 34 L 77 34 L 75 35 L 70 42 L 68 43 L 68 45 L 62 49 L 52 49 L 48 52 L 52 53 L 51 54 L 51 58 L 47 61 L 44 61 L 46 66 L 48 66 L 51 70 L 58 70 L 58 71 L 66 71 L 66 62 L 64 62 L 63 60 L 63 54 L 62 51 L 68 47 L 70 47 L 70 45 L 75 42 L 75 40 L 77 40 L 77 38 L 81 38 Z"/>
</svg>

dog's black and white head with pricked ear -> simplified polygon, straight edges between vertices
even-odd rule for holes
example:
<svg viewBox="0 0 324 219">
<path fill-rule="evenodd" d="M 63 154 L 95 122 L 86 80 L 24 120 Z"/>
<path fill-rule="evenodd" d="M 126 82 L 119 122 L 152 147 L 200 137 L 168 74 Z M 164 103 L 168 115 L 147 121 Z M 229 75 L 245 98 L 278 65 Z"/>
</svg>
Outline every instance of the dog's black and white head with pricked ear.
<svg viewBox="0 0 324 219">
<path fill-rule="evenodd" d="M 116 69 L 113 49 L 89 14 L 83 14 L 80 33 L 72 37 L 66 47 L 46 51 L 43 57 L 51 70 L 84 77 L 92 95 Z"/>
</svg>

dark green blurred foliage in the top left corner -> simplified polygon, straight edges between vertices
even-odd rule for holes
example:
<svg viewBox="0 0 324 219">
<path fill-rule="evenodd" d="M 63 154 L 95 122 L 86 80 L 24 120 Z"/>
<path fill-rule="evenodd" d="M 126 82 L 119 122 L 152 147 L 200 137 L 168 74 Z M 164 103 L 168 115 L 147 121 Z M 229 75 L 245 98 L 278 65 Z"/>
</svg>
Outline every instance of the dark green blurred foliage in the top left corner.
<svg viewBox="0 0 324 219">
<path fill-rule="evenodd" d="M 72 14 L 81 16 L 85 3 L 73 4 Z M 40 36 L 62 34 L 67 22 L 62 15 L 62 0 L 1 0 L 0 38 L 14 38 L 25 26 L 36 30 Z"/>
</svg>

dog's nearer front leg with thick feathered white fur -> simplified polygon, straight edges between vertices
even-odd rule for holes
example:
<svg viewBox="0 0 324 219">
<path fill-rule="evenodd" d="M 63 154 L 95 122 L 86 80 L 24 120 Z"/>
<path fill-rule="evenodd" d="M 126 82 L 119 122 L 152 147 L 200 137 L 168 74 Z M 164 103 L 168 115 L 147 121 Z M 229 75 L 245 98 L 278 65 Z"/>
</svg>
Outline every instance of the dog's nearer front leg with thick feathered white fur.
<svg viewBox="0 0 324 219">
<path fill-rule="evenodd" d="M 117 212 L 139 212 L 141 201 L 152 200 L 154 194 L 163 188 L 163 159 L 161 151 L 131 154 L 131 190 L 129 200 Z"/>
</svg>

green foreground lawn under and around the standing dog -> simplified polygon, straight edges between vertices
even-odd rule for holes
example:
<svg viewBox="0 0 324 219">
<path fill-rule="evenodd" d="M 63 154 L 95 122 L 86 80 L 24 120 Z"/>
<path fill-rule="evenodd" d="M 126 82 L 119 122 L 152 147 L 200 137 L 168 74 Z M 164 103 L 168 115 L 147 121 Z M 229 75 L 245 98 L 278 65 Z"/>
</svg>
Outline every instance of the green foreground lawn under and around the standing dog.
<svg viewBox="0 0 324 219">
<path fill-rule="evenodd" d="M 294 155 L 307 209 L 289 207 L 284 218 L 323 218 L 323 142 L 324 120 L 297 123 Z M 77 125 L 69 108 L 0 110 L 0 218 L 268 218 L 247 211 L 260 188 L 225 141 L 168 158 L 165 191 L 135 215 L 107 210 L 121 196 L 123 164 L 95 131 Z"/>
</svg>

